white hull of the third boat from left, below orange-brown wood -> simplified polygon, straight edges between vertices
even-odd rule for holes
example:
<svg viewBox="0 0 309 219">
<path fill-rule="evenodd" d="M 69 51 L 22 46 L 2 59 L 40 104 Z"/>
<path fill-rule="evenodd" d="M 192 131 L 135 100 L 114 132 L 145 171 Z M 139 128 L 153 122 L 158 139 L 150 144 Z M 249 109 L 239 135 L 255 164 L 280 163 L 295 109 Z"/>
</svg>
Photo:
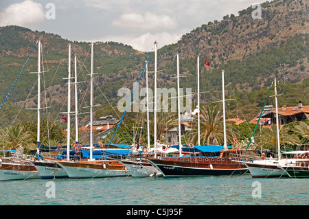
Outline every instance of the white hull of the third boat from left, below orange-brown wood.
<svg viewBox="0 0 309 219">
<path fill-rule="evenodd" d="M 62 165 L 65 162 L 58 163 L 67 172 L 69 178 L 102 178 L 112 176 L 128 176 L 130 172 L 127 170 L 104 170 L 96 168 L 82 168 Z"/>
</svg>

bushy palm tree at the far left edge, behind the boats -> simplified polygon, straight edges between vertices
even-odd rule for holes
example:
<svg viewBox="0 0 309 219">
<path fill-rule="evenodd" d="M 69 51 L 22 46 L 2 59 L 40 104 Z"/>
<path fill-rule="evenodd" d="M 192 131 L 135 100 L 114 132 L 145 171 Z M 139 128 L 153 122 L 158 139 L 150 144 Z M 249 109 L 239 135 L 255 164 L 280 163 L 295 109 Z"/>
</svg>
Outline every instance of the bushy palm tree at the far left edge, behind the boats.
<svg viewBox="0 0 309 219">
<path fill-rule="evenodd" d="M 6 128 L 1 135 L 4 135 L 5 148 L 17 149 L 22 146 L 25 149 L 36 149 L 32 132 L 25 130 L 23 126 L 16 125 Z"/>
</svg>

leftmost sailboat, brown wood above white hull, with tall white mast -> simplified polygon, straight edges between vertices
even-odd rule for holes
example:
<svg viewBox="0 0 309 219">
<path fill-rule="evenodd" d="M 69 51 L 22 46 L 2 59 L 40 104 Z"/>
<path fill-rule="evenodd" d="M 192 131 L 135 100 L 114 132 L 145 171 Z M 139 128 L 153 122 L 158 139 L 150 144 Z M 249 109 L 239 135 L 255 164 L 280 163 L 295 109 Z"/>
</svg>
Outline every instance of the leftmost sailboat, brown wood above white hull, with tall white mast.
<svg viewBox="0 0 309 219">
<path fill-rule="evenodd" d="M 38 108 L 36 108 L 36 110 L 38 111 L 38 133 L 39 133 L 40 128 L 39 121 L 40 121 L 40 110 L 41 110 L 40 107 L 41 41 L 38 41 L 36 45 L 38 45 L 38 72 L 36 72 L 38 73 Z M 37 141 L 39 146 L 40 144 L 39 134 Z M 10 150 L 10 152 L 13 155 L 12 157 L 1 158 L 0 181 L 41 178 L 36 167 L 30 162 L 32 160 L 32 157 L 23 154 L 22 147 L 18 148 L 18 150 L 16 151 Z"/>
</svg>

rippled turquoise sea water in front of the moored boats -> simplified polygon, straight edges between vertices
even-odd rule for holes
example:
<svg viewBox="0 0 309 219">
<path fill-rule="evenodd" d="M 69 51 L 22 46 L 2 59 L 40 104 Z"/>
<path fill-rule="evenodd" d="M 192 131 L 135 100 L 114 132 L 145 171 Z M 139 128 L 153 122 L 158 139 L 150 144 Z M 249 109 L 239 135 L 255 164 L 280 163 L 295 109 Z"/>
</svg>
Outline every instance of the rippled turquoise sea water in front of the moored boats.
<svg viewBox="0 0 309 219">
<path fill-rule="evenodd" d="M 0 201 L 1 205 L 308 205 L 309 180 L 245 174 L 1 181 Z"/>
</svg>

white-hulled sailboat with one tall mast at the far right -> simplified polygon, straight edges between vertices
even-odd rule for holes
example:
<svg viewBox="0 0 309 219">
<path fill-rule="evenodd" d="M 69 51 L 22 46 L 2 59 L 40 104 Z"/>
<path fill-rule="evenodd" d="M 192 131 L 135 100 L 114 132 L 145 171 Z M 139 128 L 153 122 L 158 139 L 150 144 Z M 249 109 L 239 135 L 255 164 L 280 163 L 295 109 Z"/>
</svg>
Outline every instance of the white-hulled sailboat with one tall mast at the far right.
<svg viewBox="0 0 309 219">
<path fill-rule="evenodd" d="M 266 177 L 308 177 L 309 176 L 309 152 L 292 152 L 295 154 L 306 154 L 306 159 L 299 157 L 296 158 L 283 158 L 280 149 L 280 137 L 279 137 L 279 117 L 278 117 L 278 103 L 277 103 L 277 81 L 274 78 L 275 84 L 275 108 L 276 108 L 276 128 L 277 128 L 277 152 L 278 159 L 247 159 L 244 161 L 244 165 L 250 171 L 253 178 L 266 178 Z M 271 91 L 271 88 L 269 89 Z M 268 91 L 268 94 L 269 94 Z M 262 115 L 262 112 L 261 112 Z M 257 124 L 258 125 L 258 124 Z M 254 133 L 253 133 L 254 135 Z M 252 137 L 251 137 L 252 139 Z M 291 153 L 291 152 L 286 152 Z"/>
</svg>

